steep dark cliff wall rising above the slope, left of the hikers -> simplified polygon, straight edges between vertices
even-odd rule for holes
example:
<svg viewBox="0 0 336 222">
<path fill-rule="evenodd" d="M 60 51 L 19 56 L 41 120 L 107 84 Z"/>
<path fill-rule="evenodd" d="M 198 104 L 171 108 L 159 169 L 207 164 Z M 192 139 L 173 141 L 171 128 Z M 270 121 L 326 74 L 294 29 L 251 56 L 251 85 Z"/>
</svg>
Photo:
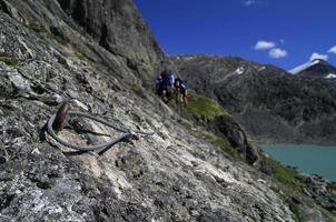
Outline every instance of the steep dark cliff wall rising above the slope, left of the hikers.
<svg viewBox="0 0 336 222">
<path fill-rule="evenodd" d="M 60 7 L 95 41 L 113 54 L 127 59 L 127 64 L 152 82 L 164 53 L 137 12 L 131 0 L 58 0 Z"/>
</svg>

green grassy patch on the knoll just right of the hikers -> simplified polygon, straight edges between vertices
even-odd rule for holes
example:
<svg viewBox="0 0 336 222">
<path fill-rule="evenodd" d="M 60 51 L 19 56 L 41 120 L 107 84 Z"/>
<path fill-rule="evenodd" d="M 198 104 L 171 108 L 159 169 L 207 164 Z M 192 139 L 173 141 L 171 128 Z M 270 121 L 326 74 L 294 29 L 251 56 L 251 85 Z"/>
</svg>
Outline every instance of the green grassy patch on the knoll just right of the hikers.
<svg viewBox="0 0 336 222">
<path fill-rule="evenodd" d="M 197 120 L 213 121 L 218 115 L 228 115 L 218 102 L 195 92 L 190 93 L 190 102 L 187 111 Z"/>
</svg>

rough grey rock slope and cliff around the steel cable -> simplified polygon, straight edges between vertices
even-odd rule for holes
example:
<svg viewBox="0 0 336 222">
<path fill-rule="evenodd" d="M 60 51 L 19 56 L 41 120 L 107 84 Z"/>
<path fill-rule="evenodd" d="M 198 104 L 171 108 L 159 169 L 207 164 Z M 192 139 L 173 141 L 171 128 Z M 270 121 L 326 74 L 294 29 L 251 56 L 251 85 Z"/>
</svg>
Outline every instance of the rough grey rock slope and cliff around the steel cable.
<svg viewBox="0 0 336 222">
<path fill-rule="evenodd" d="M 146 88 L 170 64 L 131 1 L 0 6 L 0 221 L 335 219 L 313 199 L 288 202 L 295 193 L 178 123 Z M 70 151 L 42 132 L 63 101 L 158 133 L 102 155 Z M 92 144 L 119 132 L 71 119 L 59 134 Z"/>
</svg>

